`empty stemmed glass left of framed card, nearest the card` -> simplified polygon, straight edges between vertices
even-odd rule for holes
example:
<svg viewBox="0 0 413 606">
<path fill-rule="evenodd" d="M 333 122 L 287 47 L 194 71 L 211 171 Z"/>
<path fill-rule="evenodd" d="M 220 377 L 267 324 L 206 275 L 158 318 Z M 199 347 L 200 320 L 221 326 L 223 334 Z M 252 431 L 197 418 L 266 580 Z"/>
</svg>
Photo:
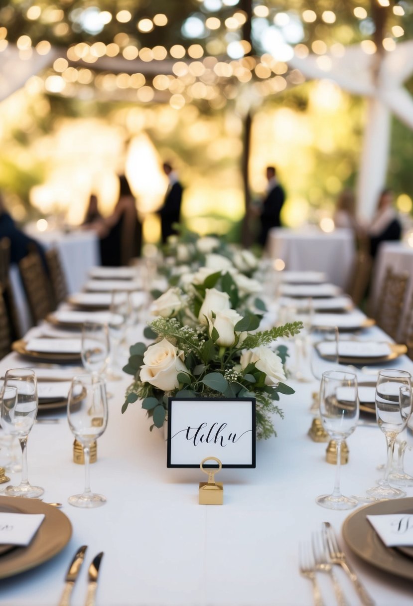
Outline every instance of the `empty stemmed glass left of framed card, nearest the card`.
<svg viewBox="0 0 413 606">
<path fill-rule="evenodd" d="M 68 499 L 74 507 L 100 507 L 106 502 L 102 494 L 90 490 L 90 446 L 104 433 L 108 424 L 105 381 L 101 376 L 79 375 L 71 381 L 67 401 L 67 419 L 75 438 L 82 444 L 85 457 L 85 488 L 82 494 Z"/>
</svg>

